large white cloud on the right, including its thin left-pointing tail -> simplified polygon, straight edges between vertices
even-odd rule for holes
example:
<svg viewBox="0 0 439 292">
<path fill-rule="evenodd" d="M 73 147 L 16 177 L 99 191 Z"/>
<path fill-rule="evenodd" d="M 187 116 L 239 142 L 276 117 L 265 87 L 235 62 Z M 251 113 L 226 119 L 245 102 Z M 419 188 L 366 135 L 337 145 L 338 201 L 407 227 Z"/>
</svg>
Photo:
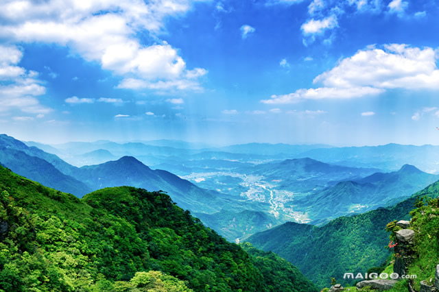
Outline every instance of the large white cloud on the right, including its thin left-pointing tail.
<svg viewBox="0 0 439 292">
<path fill-rule="evenodd" d="M 287 95 L 272 95 L 264 104 L 294 104 L 304 99 L 349 99 L 379 95 L 388 89 L 439 89 L 438 54 L 429 47 L 384 45 L 368 47 L 341 60 L 318 75 L 318 88 L 302 88 Z"/>
</svg>

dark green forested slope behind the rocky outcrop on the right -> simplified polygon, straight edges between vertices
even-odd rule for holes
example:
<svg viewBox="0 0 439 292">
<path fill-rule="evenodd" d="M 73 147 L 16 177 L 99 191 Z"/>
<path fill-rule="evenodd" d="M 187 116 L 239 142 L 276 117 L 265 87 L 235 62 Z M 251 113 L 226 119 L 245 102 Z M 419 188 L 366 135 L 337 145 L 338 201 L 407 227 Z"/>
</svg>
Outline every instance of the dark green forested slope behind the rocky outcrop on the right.
<svg viewBox="0 0 439 292">
<path fill-rule="evenodd" d="M 439 182 L 392 207 L 340 217 L 322 227 L 288 222 L 254 234 L 247 241 L 285 258 L 318 287 L 329 286 L 331 277 L 347 284 L 344 273 L 366 273 L 388 258 L 386 224 L 408 219 L 416 197 L 423 195 L 438 197 Z"/>
</svg>

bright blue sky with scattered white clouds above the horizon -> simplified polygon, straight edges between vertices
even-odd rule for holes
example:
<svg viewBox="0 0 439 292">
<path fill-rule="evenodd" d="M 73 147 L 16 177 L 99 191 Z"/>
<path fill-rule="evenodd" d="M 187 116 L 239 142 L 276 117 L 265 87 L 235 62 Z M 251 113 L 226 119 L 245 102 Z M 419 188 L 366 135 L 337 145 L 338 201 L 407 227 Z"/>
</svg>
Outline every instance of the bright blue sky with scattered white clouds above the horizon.
<svg viewBox="0 0 439 292">
<path fill-rule="evenodd" d="M 439 144 L 439 1 L 3 0 L 23 141 Z"/>
</svg>

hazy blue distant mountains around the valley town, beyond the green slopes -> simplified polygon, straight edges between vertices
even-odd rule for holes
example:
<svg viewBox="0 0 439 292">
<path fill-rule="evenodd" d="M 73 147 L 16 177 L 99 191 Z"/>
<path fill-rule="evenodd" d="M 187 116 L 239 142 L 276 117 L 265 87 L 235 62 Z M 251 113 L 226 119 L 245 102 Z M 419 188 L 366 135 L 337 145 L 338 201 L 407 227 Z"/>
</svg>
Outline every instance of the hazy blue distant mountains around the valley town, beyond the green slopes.
<svg viewBox="0 0 439 292">
<path fill-rule="evenodd" d="M 56 145 L 57 149 L 39 145 L 68 154 L 77 162 L 97 163 L 74 167 L 54 154 L 1 135 L 0 163 L 29 179 L 78 197 L 107 186 L 166 191 L 179 206 L 195 212 L 207 226 L 230 241 L 245 239 L 285 221 L 321 225 L 343 215 L 390 206 L 437 179 L 409 165 L 384 173 L 375 168 L 332 165 L 312 158 L 278 160 L 285 155 L 279 151 L 344 153 L 327 145 L 253 143 L 230 146 L 230 151 L 243 152 L 230 153 L 164 147 L 163 141 L 157 144 L 161 146 L 111 141 L 65 143 Z M 320 146 L 327 148 L 316 148 Z M 353 148 L 360 152 L 361 149 L 390 151 L 399 146 L 405 148 L 404 145 Z M 259 154 L 251 154 L 252 147 Z M 380 157 L 392 156 L 383 153 Z M 167 171 L 153 170 L 144 160 L 153 160 Z"/>
</svg>

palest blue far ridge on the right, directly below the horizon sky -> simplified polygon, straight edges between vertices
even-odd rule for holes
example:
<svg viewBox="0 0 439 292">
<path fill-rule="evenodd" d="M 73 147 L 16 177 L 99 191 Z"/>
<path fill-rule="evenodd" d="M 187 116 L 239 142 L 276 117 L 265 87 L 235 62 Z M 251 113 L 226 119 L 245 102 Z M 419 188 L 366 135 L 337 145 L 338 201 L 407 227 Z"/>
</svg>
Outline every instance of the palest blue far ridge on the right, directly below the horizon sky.
<svg viewBox="0 0 439 292">
<path fill-rule="evenodd" d="M 427 173 L 439 173 L 439 146 L 387 144 L 364 147 L 311 149 L 296 158 L 313 158 L 327 163 L 354 167 L 373 167 L 396 171 L 405 164 L 416 165 Z"/>
</svg>

